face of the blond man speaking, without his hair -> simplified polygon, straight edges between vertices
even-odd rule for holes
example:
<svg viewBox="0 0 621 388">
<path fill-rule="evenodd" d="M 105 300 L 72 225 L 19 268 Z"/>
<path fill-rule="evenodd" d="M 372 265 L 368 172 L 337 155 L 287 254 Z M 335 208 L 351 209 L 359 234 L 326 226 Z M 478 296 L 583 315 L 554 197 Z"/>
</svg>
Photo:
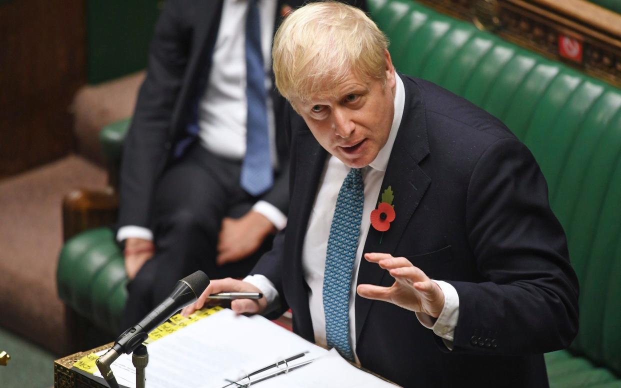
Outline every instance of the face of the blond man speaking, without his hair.
<svg viewBox="0 0 621 388">
<path fill-rule="evenodd" d="M 385 86 L 381 80 L 363 80 L 352 72 L 330 93 L 307 103 L 292 101 L 317 142 L 351 168 L 368 166 L 388 140 L 395 88 L 388 53 L 386 63 Z"/>
</svg>

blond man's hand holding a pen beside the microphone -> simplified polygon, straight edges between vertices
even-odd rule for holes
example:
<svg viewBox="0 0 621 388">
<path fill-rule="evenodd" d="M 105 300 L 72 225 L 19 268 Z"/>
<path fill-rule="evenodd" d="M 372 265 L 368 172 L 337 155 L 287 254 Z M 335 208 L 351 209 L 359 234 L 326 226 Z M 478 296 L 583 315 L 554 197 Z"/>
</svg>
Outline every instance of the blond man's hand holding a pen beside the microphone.
<svg viewBox="0 0 621 388">
<path fill-rule="evenodd" d="M 202 309 L 205 302 L 209 300 L 209 295 L 217 294 L 219 292 L 261 292 L 261 290 L 250 283 L 237 279 L 231 279 L 230 277 L 227 277 L 226 279 L 212 280 L 207 289 L 201 294 L 201 296 L 198 297 L 196 302 L 185 307 L 181 311 L 181 315 L 187 317 L 196 310 Z M 265 311 L 267 306 L 268 302 L 265 299 L 265 296 L 258 300 L 235 299 L 231 301 L 231 310 L 237 314 L 261 314 Z"/>
</svg>

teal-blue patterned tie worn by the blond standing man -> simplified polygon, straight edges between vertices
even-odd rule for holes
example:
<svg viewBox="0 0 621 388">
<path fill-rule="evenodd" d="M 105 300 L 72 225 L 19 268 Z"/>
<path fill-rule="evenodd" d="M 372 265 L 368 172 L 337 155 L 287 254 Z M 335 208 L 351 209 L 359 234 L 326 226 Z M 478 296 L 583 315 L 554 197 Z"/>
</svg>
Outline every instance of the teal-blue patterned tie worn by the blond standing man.
<svg viewBox="0 0 621 388">
<path fill-rule="evenodd" d="M 358 249 L 365 191 L 360 169 L 352 168 L 338 192 L 325 255 L 324 313 L 329 348 L 353 361 L 349 335 L 351 269 Z"/>
</svg>

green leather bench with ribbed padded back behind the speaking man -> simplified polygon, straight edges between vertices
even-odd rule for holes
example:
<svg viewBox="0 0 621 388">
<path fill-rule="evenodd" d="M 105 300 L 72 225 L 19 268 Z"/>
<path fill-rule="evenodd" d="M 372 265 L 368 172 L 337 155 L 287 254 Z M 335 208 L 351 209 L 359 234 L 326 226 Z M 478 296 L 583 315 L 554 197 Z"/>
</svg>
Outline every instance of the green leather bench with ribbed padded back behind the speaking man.
<svg viewBox="0 0 621 388">
<path fill-rule="evenodd" d="M 553 387 L 621 387 L 621 91 L 410 0 L 369 0 L 396 68 L 429 79 L 503 120 L 540 163 L 581 284 L 580 330 L 546 354 Z M 120 155 L 127 122 L 107 127 Z M 111 230 L 69 240 L 58 293 L 100 327 L 124 305 L 122 256 Z"/>
</svg>

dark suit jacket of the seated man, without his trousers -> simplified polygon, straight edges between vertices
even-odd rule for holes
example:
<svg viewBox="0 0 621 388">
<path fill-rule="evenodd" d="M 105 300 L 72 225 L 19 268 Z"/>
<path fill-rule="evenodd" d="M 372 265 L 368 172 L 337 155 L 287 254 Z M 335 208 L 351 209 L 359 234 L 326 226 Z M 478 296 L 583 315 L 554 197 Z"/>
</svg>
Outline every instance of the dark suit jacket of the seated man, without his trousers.
<svg viewBox="0 0 621 388">
<path fill-rule="evenodd" d="M 281 7 L 277 7 L 278 12 Z M 211 53 L 220 25 L 222 1 L 169 0 L 156 25 L 147 78 L 140 88 L 134 119 L 125 140 L 120 225 L 150 225 L 153 189 L 161 171 L 183 145 L 196 140 L 188 124 L 209 78 Z M 281 17 L 276 17 L 276 26 Z M 183 45 L 181 43 L 184 43 Z M 282 135 L 284 101 L 276 92 L 276 148 L 286 166 Z M 148 141 L 145 141 L 148 139 Z M 279 174 L 265 201 L 286 212 L 286 174 Z"/>
</svg>

